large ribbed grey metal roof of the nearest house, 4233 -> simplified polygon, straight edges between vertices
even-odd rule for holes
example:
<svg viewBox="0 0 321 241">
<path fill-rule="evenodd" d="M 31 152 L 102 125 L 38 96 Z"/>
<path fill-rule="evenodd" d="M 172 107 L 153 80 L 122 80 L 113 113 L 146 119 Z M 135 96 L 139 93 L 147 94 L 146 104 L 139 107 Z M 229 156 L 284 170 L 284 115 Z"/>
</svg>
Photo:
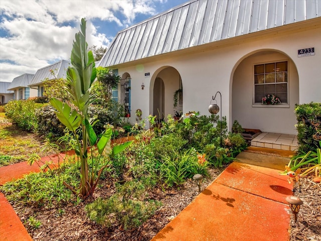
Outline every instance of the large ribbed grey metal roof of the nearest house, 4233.
<svg viewBox="0 0 321 241">
<path fill-rule="evenodd" d="M 191 0 L 117 33 L 99 66 L 319 17 L 321 0 Z"/>
</svg>

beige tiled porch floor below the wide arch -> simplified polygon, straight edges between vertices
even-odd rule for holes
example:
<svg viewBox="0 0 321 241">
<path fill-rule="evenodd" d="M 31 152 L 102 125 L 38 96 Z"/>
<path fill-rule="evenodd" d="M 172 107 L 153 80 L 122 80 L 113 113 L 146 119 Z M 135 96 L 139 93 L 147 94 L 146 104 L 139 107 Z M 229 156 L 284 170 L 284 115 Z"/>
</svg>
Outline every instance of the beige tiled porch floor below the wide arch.
<svg viewBox="0 0 321 241">
<path fill-rule="evenodd" d="M 297 149 L 297 136 L 263 132 L 251 140 L 251 146 L 294 151 Z"/>
</svg>

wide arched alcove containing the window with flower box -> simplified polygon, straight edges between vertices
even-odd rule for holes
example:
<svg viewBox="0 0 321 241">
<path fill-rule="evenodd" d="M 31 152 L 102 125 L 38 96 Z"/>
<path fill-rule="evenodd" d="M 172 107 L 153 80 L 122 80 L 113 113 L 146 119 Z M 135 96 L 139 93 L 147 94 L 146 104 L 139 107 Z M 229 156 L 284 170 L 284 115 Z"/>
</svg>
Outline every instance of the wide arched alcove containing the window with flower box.
<svg viewBox="0 0 321 241">
<path fill-rule="evenodd" d="M 284 53 L 264 50 L 245 57 L 233 74 L 231 125 L 237 120 L 243 128 L 295 135 L 298 82 L 295 64 Z M 281 104 L 262 104 L 267 94 L 280 97 Z"/>
</svg>

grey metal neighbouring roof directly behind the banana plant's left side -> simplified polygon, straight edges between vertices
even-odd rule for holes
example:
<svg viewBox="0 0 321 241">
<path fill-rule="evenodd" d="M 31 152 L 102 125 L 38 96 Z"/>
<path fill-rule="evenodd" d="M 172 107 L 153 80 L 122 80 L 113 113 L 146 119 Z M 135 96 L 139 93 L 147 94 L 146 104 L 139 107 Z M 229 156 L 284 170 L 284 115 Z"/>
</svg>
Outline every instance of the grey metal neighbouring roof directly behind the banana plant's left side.
<svg viewBox="0 0 321 241">
<path fill-rule="evenodd" d="M 60 60 L 57 63 L 38 69 L 29 86 L 38 85 L 47 79 L 66 78 L 69 65 L 70 62 L 68 60 Z"/>
</svg>

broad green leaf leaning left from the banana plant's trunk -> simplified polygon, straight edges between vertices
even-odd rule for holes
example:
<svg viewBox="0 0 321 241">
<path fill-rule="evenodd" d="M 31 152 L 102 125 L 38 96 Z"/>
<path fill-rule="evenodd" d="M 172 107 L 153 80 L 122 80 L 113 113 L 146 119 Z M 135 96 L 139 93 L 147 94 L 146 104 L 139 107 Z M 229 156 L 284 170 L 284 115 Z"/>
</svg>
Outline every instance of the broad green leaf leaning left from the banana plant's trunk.
<svg viewBox="0 0 321 241">
<path fill-rule="evenodd" d="M 56 108 L 56 115 L 59 121 L 75 133 L 81 124 L 81 115 L 78 114 L 76 110 L 72 110 L 67 103 L 55 97 L 51 98 L 49 102 Z"/>
</svg>

